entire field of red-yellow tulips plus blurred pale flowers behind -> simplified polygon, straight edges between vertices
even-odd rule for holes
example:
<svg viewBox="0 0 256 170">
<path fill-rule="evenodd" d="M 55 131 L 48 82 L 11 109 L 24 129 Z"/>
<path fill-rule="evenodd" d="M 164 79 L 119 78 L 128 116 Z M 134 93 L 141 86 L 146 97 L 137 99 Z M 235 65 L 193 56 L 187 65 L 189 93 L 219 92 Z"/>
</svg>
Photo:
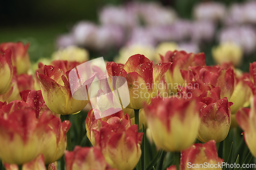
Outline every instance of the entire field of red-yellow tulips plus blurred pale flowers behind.
<svg viewBox="0 0 256 170">
<path fill-rule="evenodd" d="M 255 7 L 103 6 L 47 57 L 0 37 L 0 170 L 256 169 Z"/>
</svg>

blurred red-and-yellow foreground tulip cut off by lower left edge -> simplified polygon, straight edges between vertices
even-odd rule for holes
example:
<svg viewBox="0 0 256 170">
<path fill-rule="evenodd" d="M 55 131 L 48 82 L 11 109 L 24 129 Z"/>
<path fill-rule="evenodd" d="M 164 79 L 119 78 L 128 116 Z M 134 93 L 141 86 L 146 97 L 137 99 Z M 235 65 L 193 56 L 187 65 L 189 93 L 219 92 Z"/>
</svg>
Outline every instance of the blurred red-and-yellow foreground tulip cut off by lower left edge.
<svg viewBox="0 0 256 170">
<path fill-rule="evenodd" d="M 3 108 L 2 108 L 3 109 Z M 0 114 L 0 157 L 9 164 L 24 164 L 40 153 L 44 129 L 30 108 Z"/>
</svg>

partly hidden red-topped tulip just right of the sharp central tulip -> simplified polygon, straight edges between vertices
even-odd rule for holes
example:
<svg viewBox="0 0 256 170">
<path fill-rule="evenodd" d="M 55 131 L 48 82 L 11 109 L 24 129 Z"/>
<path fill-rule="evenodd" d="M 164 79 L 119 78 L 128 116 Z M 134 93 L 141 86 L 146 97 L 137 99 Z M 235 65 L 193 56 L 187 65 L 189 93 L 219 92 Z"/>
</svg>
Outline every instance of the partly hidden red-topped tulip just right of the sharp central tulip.
<svg viewBox="0 0 256 170">
<path fill-rule="evenodd" d="M 182 78 L 181 70 L 188 70 L 188 66 L 203 66 L 205 65 L 205 55 L 203 53 L 187 54 L 184 51 L 167 52 L 165 56 L 161 56 L 162 62 L 172 62 L 169 70 L 165 74 L 165 80 L 168 84 L 168 89 L 177 92 L 177 86 L 185 86 Z"/>
</svg>

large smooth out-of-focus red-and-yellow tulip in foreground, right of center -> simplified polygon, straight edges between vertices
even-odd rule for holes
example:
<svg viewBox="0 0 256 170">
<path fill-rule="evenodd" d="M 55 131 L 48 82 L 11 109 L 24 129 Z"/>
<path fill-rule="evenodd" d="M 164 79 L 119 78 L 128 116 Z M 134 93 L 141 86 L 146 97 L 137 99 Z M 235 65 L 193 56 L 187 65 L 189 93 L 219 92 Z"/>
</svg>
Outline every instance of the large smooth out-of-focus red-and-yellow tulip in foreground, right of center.
<svg viewBox="0 0 256 170">
<path fill-rule="evenodd" d="M 195 99 L 155 98 L 145 105 L 147 126 L 157 147 L 177 152 L 197 137 L 200 105 Z"/>
</svg>

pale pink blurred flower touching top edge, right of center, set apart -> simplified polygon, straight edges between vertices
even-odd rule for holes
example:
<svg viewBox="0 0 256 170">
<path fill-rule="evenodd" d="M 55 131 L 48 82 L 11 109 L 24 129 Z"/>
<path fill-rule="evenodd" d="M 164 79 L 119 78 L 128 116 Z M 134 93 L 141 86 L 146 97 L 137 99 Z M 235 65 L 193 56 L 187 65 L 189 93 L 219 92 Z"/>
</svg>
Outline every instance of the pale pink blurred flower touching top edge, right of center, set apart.
<svg viewBox="0 0 256 170">
<path fill-rule="evenodd" d="M 225 5 L 218 2 L 204 2 L 193 9 L 194 17 L 203 20 L 222 20 L 225 16 Z"/>
</svg>

